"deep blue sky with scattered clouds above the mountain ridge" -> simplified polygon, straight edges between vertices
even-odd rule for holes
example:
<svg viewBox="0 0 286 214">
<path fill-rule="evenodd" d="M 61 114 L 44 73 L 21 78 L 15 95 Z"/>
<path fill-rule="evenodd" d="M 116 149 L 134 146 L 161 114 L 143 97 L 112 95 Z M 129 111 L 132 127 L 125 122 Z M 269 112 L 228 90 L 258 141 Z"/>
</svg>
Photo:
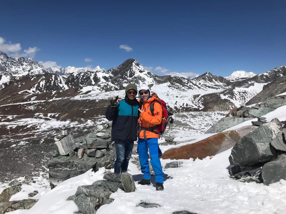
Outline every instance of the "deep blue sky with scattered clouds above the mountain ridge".
<svg viewBox="0 0 286 214">
<path fill-rule="evenodd" d="M 0 51 L 106 70 L 134 58 L 158 75 L 286 64 L 286 1 L 102 2 L 0 0 Z"/>
</svg>

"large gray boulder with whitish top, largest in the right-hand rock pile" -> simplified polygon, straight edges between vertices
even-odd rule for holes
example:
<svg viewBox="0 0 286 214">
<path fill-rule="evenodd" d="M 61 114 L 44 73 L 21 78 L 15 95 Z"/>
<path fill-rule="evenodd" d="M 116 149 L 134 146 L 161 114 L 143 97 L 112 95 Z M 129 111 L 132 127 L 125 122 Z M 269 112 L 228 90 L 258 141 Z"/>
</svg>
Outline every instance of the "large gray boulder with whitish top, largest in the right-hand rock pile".
<svg viewBox="0 0 286 214">
<path fill-rule="evenodd" d="M 270 161 L 276 156 L 276 152 L 270 143 L 272 140 L 276 142 L 275 138 L 281 133 L 278 130 L 279 126 L 275 122 L 271 122 L 259 126 L 241 138 L 231 150 L 230 164 L 245 166 Z"/>
</svg>

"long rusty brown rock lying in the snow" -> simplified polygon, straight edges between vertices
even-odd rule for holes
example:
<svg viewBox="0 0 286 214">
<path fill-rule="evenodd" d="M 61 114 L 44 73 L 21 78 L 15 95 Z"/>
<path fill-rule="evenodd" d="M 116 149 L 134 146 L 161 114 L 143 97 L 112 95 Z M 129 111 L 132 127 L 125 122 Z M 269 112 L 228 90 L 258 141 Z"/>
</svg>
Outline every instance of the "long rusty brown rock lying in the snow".
<svg viewBox="0 0 286 214">
<path fill-rule="evenodd" d="M 203 159 L 207 156 L 216 155 L 230 149 L 240 139 L 240 136 L 233 130 L 218 133 L 201 141 L 186 146 L 167 150 L 162 159 Z"/>
</svg>

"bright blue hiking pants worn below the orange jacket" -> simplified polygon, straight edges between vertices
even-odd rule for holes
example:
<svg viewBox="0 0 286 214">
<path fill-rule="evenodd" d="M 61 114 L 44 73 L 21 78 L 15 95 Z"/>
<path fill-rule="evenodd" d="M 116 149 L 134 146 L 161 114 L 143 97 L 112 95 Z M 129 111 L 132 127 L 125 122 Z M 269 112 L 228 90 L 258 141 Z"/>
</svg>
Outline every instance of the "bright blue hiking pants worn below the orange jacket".
<svg viewBox="0 0 286 214">
<path fill-rule="evenodd" d="M 147 138 L 147 140 L 143 138 L 138 139 L 138 155 L 139 161 L 141 165 L 141 172 L 144 174 L 143 179 L 151 180 L 151 174 L 149 169 L 149 155 L 148 149 L 150 153 L 150 163 L 155 172 L 155 182 L 156 183 L 164 183 L 164 172 L 162 171 L 161 162 L 159 157 L 162 156 L 162 152 L 159 149 L 158 138 Z"/>
</svg>

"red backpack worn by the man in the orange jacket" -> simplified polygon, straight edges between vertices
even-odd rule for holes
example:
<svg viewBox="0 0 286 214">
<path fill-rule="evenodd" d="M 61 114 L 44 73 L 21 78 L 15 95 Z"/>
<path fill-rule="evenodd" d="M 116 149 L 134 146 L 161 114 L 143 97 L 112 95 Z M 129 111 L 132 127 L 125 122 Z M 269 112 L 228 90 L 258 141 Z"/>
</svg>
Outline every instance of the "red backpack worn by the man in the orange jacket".
<svg viewBox="0 0 286 214">
<path fill-rule="evenodd" d="M 157 97 L 157 95 L 156 95 Z M 160 136 L 163 135 L 167 125 L 168 125 L 168 122 L 170 122 L 170 124 L 172 124 L 174 122 L 174 119 L 172 118 L 172 113 L 169 111 L 167 111 L 167 105 L 166 105 L 166 102 L 164 100 L 160 100 L 157 101 L 155 100 L 153 103 L 150 104 L 150 111 L 151 111 L 151 114 L 152 116 L 154 116 L 154 103 L 159 103 L 161 106 L 162 106 L 162 121 L 159 125 L 157 125 L 155 128 L 154 128 L 154 132 L 159 134 L 159 138 Z M 170 128 L 170 125 L 169 125 L 169 128 Z"/>
</svg>

